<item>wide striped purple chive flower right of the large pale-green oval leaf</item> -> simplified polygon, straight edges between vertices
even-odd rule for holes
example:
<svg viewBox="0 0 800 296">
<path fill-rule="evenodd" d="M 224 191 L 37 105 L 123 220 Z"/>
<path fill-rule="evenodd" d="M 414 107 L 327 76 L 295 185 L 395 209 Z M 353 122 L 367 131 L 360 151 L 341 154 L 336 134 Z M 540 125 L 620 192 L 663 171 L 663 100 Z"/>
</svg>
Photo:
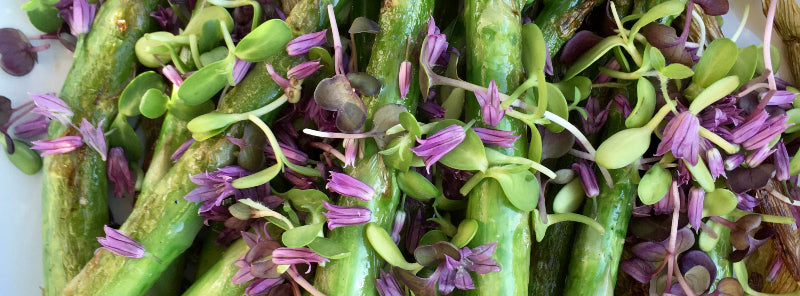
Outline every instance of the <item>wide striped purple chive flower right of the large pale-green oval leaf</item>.
<svg viewBox="0 0 800 296">
<path fill-rule="evenodd" d="M 672 151 L 676 158 L 683 158 L 697 165 L 700 153 L 700 120 L 689 111 L 683 111 L 667 123 L 664 137 L 658 144 L 656 155 Z"/>
</svg>

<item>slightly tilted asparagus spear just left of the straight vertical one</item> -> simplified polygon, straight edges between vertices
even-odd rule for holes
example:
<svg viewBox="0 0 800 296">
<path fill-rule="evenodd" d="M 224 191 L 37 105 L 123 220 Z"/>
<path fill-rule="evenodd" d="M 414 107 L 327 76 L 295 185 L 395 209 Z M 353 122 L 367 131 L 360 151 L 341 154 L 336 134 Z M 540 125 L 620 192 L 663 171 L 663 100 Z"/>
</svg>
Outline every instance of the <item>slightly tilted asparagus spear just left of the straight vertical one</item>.
<svg viewBox="0 0 800 296">
<path fill-rule="evenodd" d="M 411 48 L 422 43 L 420 32 L 426 29 L 433 0 L 387 1 L 381 10 L 381 33 L 375 39 L 367 73 L 381 81 L 381 90 L 376 96 L 365 97 L 368 114 L 385 104 L 403 104 L 410 111 L 416 110 L 419 86 L 411 84 L 405 100 L 400 97 L 397 86 L 400 63 L 405 60 L 405 41 L 411 37 Z M 415 66 L 416 63 L 415 63 Z M 411 81 L 417 81 L 416 72 Z M 374 145 L 369 140 L 368 145 Z M 348 173 L 375 189 L 370 202 L 343 198 L 339 205 L 362 206 L 372 211 L 372 222 L 384 230 L 390 230 L 394 221 L 400 190 L 394 173 L 384 164 L 381 154 L 367 155 L 357 162 Z M 350 250 L 350 256 L 331 260 L 317 269 L 314 286 L 327 295 L 377 295 L 375 279 L 382 260 L 365 240 L 364 226 L 340 227 L 331 231 L 330 238 Z"/>
</svg>

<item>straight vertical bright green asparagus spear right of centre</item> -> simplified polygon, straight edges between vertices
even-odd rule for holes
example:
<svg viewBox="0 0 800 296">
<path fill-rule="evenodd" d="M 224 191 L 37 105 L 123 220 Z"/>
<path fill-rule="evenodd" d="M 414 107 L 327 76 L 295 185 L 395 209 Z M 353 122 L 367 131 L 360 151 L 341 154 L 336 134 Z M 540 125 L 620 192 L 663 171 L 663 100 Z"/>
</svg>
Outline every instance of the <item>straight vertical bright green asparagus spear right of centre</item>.
<svg viewBox="0 0 800 296">
<path fill-rule="evenodd" d="M 525 1 L 470 0 L 464 4 L 467 80 L 482 86 L 494 80 L 500 92 L 513 90 L 523 77 L 520 12 Z M 479 119 L 479 110 L 470 94 L 467 117 Z M 528 151 L 525 124 L 506 116 L 495 128 L 522 136 L 515 142 L 516 149 L 504 149 L 504 153 L 523 156 Z M 469 247 L 496 241 L 492 258 L 501 270 L 471 274 L 476 289 L 464 291 L 465 295 L 528 295 L 530 214 L 517 210 L 502 192 L 497 181 L 487 178 L 469 193 L 466 217 L 478 222 Z"/>
</svg>

